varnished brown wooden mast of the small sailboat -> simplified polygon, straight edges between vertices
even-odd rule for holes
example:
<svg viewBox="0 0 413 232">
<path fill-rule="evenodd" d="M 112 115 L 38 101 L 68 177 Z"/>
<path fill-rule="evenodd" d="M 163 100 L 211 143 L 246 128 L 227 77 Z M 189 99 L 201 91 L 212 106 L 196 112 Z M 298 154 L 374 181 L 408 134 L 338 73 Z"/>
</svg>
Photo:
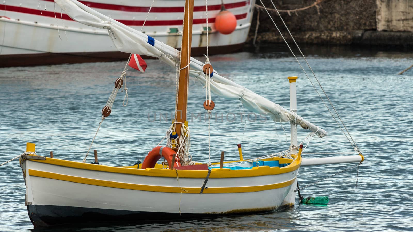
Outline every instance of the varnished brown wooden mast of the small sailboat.
<svg viewBox="0 0 413 232">
<path fill-rule="evenodd" d="M 189 63 L 191 59 L 192 17 L 194 14 L 194 0 L 185 0 L 183 19 L 182 45 L 180 53 L 180 71 L 178 80 L 178 99 L 175 109 L 175 122 L 185 123 L 186 107 L 188 104 Z M 175 132 L 181 137 L 182 124 L 176 124 Z"/>
</svg>

